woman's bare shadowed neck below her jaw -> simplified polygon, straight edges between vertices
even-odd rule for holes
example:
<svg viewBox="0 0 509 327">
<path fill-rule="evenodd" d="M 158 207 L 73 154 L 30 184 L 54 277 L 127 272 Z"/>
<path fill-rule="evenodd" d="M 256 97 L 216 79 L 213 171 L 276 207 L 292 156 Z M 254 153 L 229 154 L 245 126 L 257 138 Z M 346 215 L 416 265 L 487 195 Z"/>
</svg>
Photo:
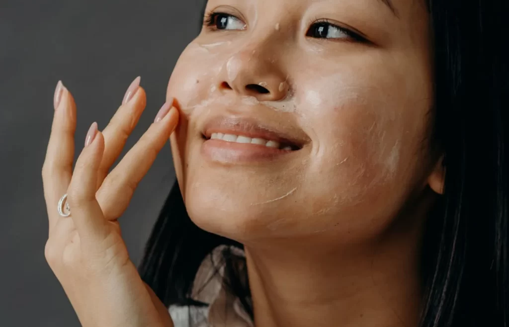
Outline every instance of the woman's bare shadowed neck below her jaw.
<svg viewBox="0 0 509 327">
<path fill-rule="evenodd" d="M 246 245 L 256 325 L 417 326 L 418 237 L 399 236 L 348 251 Z"/>
</svg>

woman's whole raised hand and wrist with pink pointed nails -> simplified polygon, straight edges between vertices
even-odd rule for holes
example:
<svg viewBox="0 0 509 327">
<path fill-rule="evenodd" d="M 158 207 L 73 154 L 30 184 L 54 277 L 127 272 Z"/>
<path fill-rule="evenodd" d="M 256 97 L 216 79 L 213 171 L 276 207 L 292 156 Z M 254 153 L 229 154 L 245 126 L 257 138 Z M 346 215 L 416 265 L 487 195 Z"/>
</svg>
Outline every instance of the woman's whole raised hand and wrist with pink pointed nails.
<svg viewBox="0 0 509 327">
<path fill-rule="evenodd" d="M 165 104 L 159 113 L 167 113 L 108 174 L 145 108 L 146 94 L 138 78 L 124 102 L 102 133 L 92 124 L 86 138 L 89 144 L 73 173 L 76 106 L 59 82 L 42 168 L 49 218 L 45 257 L 83 326 L 173 327 L 167 309 L 130 260 L 117 219 L 175 130 L 179 114 L 170 109 L 172 103 Z M 57 211 L 65 193 L 71 211 L 67 218 Z"/>
</svg>

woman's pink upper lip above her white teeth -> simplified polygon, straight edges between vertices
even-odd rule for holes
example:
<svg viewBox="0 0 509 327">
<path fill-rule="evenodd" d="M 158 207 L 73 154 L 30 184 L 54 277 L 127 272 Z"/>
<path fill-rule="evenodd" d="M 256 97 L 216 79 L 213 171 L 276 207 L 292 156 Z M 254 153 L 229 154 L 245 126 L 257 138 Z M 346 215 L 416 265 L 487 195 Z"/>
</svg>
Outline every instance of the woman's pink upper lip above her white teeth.
<svg viewBox="0 0 509 327">
<path fill-rule="evenodd" d="M 212 133 L 234 134 L 277 141 L 297 148 L 302 148 L 309 141 L 307 135 L 288 120 L 282 124 L 275 119 L 262 121 L 258 117 L 245 114 L 211 116 L 205 120 L 201 131 L 207 139 Z"/>
</svg>

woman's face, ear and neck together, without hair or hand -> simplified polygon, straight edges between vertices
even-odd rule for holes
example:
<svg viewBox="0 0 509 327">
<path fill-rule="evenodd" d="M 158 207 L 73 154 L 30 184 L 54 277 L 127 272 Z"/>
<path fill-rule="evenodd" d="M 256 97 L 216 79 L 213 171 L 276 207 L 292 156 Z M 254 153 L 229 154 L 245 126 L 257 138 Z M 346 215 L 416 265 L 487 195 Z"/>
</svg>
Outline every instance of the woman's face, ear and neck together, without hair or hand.
<svg viewBox="0 0 509 327">
<path fill-rule="evenodd" d="M 417 325 L 432 45 L 425 4 L 391 5 L 210 0 L 169 81 L 188 214 L 245 245 L 257 325 Z M 267 130 L 292 150 L 211 139 Z"/>
</svg>

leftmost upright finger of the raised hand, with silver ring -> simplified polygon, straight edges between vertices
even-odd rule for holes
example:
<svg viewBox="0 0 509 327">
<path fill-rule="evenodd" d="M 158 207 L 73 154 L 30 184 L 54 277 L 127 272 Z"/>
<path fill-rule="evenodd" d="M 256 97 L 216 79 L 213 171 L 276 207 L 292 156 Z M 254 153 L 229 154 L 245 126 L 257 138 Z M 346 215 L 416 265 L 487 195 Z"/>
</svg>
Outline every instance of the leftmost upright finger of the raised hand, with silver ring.
<svg viewBox="0 0 509 327">
<path fill-rule="evenodd" d="M 60 217 L 56 206 L 71 180 L 75 130 L 76 105 L 71 93 L 59 81 L 55 88 L 53 123 L 42 167 L 50 230 Z"/>
</svg>

